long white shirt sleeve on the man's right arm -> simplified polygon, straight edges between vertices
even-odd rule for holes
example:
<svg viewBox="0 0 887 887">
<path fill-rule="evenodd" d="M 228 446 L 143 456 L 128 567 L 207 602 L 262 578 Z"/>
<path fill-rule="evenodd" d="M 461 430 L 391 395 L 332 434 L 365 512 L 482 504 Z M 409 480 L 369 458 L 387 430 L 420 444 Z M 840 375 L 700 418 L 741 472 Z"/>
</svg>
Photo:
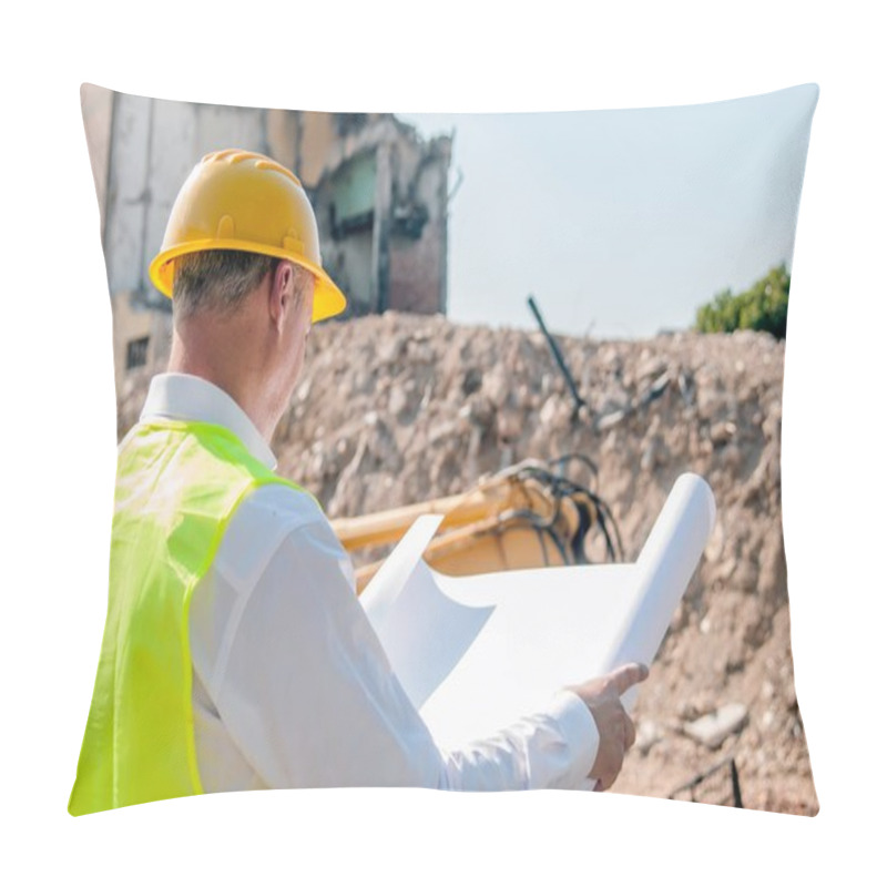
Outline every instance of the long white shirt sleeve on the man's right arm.
<svg viewBox="0 0 887 887">
<path fill-rule="evenodd" d="M 438 747 L 323 517 L 274 549 L 217 663 L 213 695 L 241 754 L 275 788 L 579 787 L 598 750 L 594 720 L 569 691 L 493 736 Z"/>
</svg>

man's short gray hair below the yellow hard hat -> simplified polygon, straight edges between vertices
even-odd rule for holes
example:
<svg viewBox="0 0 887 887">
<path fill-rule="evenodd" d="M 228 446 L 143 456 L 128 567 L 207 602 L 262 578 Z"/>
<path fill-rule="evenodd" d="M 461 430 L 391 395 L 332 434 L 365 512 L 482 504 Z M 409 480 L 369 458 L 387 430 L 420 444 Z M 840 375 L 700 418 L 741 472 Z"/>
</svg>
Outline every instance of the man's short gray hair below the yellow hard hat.
<svg viewBox="0 0 887 887">
<path fill-rule="evenodd" d="M 281 259 L 242 249 L 203 249 L 175 259 L 173 310 L 180 318 L 204 308 L 234 314 L 246 296 Z M 298 265 L 296 285 L 304 290 L 300 276 L 309 276 Z"/>
</svg>

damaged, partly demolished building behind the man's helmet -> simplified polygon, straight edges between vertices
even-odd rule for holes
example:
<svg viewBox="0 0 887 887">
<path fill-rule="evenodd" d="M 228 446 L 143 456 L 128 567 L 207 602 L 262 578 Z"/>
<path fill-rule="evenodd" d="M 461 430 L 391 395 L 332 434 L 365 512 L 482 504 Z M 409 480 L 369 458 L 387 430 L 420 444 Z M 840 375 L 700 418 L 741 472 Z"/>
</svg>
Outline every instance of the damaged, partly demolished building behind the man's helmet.
<svg viewBox="0 0 887 887">
<path fill-rule="evenodd" d="M 169 356 L 170 302 L 147 266 L 182 182 L 221 147 L 258 151 L 299 176 L 324 267 L 348 297 L 344 317 L 389 308 L 446 314 L 451 135 L 425 141 L 392 114 L 206 105 L 90 84 L 81 99 L 119 389 L 128 370 L 160 369 Z"/>
</svg>

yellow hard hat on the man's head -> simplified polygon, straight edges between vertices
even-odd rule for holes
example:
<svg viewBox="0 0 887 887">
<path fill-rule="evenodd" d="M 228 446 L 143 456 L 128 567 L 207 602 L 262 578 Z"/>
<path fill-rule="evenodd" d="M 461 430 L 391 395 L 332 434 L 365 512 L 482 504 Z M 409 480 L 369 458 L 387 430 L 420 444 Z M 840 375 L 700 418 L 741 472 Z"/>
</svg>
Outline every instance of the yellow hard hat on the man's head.
<svg viewBox="0 0 887 887">
<path fill-rule="evenodd" d="M 320 266 L 317 222 L 302 183 L 285 166 L 251 151 L 207 154 L 175 198 L 163 245 L 149 267 L 172 296 L 174 258 L 202 249 L 244 249 L 286 258 L 315 278 L 312 320 L 345 309 L 345 296 Z"/>
</svg>

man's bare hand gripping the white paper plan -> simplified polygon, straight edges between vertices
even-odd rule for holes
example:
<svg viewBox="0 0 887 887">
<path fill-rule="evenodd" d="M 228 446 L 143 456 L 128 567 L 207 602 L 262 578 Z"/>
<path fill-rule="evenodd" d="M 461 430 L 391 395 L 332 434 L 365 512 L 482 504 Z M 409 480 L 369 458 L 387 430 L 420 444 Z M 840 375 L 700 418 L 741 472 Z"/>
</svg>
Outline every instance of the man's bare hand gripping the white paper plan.
<svg viewBox="0 0 887 887">
<path fill-rule="evenodd" d="M 589 706 L 601 736 L 598 757 L 589 773 L 598 781 L 597 792 L 605 792 L 615 782 L 625 752 L 634 745 L 634 724 L 619 697 L 629 687 L 645 681 L 649 673 L 646 665 L 633 662 L 603 677 L 569 687 Z"/>
</svg>

